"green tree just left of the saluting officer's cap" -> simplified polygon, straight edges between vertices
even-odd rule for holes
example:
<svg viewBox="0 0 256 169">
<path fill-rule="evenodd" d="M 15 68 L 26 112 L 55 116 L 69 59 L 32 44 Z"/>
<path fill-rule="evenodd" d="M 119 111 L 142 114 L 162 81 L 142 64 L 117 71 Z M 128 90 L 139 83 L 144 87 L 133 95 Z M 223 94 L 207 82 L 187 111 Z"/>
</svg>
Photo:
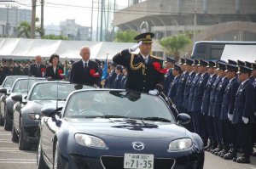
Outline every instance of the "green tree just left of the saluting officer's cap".
<svg viewBox="0 0 256 169">
<path fill-rule="evenodd" d="M 115 42 L 136 42 L 133 38 L 139 33 L 137 31 L 117 31 L 114 35 Z"/>
</svg>

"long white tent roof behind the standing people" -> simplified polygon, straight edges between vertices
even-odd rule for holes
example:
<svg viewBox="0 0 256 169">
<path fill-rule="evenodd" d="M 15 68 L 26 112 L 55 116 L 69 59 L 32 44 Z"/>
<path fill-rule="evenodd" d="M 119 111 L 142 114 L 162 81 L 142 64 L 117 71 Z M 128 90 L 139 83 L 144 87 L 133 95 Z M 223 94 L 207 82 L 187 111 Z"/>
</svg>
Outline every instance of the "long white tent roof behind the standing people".
<svg viewBox="0 0 256 169">
<path fill-rule="evenodd" d="M 0 58 L 30 59 L 36 55 L 49 57 L 59 54 L 61 59 L 80 59 L 82 46 L 90 47 L 91 59 L 112 59 L 113 55 L 125 48 L 131 48 L 134 42 L 90 42 L 24 38 L 0 38 Z M 153 43 L 153 51 L 161 52 L 158 42 Z M 137 51 L 138 52 L 138 51 Z"/>
</svg>

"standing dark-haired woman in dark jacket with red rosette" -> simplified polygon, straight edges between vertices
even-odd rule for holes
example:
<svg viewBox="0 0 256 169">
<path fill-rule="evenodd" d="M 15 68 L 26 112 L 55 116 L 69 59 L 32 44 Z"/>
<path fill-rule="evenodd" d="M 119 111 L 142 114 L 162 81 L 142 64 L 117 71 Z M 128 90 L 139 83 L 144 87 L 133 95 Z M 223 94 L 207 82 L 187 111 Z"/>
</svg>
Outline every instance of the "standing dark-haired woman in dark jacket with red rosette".
<svg viewBox="0 0 256 169">
<path fill-rule="evenodd" d="M 62 80 L 64 78 L 64 71 L 60 65 L 60 56 L 58 54 L 52 54 L 49 58 L 49 63 L 51 65 L 46 67 L 45 76 L 49 80 Z"/>
</svg>

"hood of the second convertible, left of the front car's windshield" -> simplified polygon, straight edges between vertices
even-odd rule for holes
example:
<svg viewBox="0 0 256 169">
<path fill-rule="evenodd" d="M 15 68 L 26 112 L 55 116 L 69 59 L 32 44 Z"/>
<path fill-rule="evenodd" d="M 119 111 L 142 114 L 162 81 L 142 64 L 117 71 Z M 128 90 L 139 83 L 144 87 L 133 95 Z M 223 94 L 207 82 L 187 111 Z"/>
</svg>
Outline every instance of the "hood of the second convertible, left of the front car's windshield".
<svg viewBox="0 0 256 169">
<path fill-rule="evenodd" d="M 58 107 L 63 107 L 65 101 L 58 101 Z M 33 100 L 26 104 L 26 108 L 32 108 L 34 112 L 41 112 L 44 106 L 55 107 L 56 100 Z"/>
</svg>

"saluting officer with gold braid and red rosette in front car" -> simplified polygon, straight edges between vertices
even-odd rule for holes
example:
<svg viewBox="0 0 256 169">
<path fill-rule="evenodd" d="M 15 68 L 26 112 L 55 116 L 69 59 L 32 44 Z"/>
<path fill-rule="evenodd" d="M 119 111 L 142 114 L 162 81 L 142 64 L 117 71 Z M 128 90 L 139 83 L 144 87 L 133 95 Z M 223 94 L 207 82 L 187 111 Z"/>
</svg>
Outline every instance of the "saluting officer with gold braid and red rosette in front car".
<svg viewBox="0 0 256 169">
<path fill-rule="evenodd" d="M 157 95 L 163 90 L 166 70 L 160 59 L 150 55 L 154 33 L 146 32 L 134 39 L 138 42 L 132 48 L 125 49 L 113 56 L 113 62 L 127 68 L 126 89 Z M 132 54 L 140 49 L 139 54 Z"/>
</svg>

